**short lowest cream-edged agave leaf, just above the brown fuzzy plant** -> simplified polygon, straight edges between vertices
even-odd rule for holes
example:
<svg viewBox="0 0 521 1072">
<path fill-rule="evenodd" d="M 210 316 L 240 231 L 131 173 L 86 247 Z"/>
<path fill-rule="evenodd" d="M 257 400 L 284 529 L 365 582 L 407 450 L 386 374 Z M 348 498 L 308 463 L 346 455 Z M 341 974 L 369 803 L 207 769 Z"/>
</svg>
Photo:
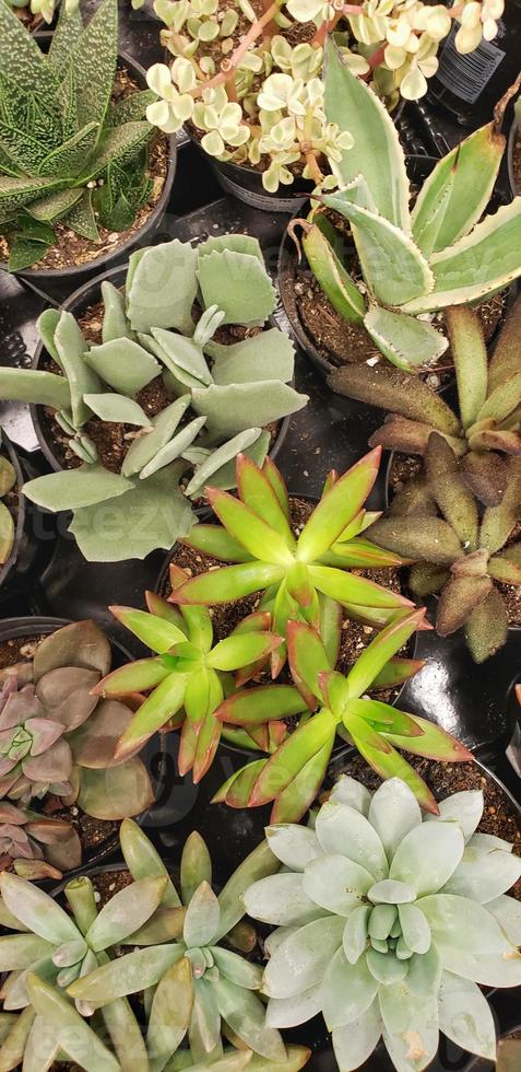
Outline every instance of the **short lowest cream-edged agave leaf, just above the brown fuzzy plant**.
<svg viewBox="0 0 521 1072">
<path fill-rule="evenodd" d="M 429 364 L 447 350 L 448 340 L 435 327 L 406 313 L 374 305 L 364 325 L 378 349 L 399 369 Z"/>
</svg>

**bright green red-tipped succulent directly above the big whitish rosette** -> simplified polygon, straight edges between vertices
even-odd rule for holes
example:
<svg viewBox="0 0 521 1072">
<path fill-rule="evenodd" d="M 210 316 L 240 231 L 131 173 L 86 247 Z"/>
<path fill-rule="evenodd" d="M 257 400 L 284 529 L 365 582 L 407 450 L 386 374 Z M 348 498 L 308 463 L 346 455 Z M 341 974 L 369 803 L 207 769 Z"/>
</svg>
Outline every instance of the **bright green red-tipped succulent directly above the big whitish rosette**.
<svg viewBox="0 0 521 1072">
<path fill-rule="evenodd" d="M 320 791 L 336 734 L 350 741 L 381 778 L 403 779 L 423 807 L 437 812 L 436 801 L 417 771 L 396 751 L 427 756 L 440 762 L 472 759 L 451 734 L 389 703 L 366 696 L 369 688 L 388 688 L 407 679 L 422 662 L 393 656 L 419 627 L 424 610 L 389 625 L 359 655 L 344 677 L 333 668 L 320 637 L 300 621 L 288 625 L 289 666 L 297 688 L 260 686 L 230 696 L 216 716 L 232 724 L 254 727 L 270 719 L 294 715 L 303 709 L 318 713 L 301 723 L 270 758 L 235 771 L 214 796 L 232 807 L 256 807 L 274 801 L 271 820 L 299 819 Z"/>
</svg>

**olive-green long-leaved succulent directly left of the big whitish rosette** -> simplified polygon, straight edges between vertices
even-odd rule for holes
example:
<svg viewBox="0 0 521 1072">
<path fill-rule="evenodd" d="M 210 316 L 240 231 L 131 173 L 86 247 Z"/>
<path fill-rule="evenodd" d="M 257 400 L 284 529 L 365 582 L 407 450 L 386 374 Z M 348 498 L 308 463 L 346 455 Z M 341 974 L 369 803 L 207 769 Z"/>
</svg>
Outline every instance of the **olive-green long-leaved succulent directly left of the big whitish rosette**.
<svg viewBox="0 0 521 1072">
<path fill-rule="evenodd" d="M 166 875 L 165 865 L 135 824 L 126 820 L 120 837 L 123 857 L 134 878 Z M 222 1057 L 222 1029 L 233 1033 L 240 1045 L 268 1061 L 284 1062 L 286 1051 L 282 1038 L 276 1029 L 265 1026 L 264 1006 L 256 994 L 262 970 L 229 948 L 229 943 L 222 944 L 226 935 L 234 942 L 245 912 L 245 890 L 252 881 L 273 874 L 277 867 L 277 859 L 263 841 L 239 865 L 217 897 L 211 886 L 208 848 L 197 832 L 191 834 L 181 857 L 181 896 L 171 881 L 165 879 L 162 905 L 144 929 L 150 937 L 147 947 L 126 953 L 83 975 L 68 988 L 68 993 L 91 1007 L 104 1009 L 114 998 L 154 988 L 147 1048 L 157 1068 L 164 1067 L 165 1058 L 173 1048 L 177 1049 L 186 1034 L 196 1061 Z M 175 940 L 165 929 L 165 922 L 170 920 L 177 925 Z M 132 937 L 128 943 L 123 941 L 138 944 Z M 165 1015 L 173 1025 L 169 1032 L 162 1029 Z"/>
</svg>

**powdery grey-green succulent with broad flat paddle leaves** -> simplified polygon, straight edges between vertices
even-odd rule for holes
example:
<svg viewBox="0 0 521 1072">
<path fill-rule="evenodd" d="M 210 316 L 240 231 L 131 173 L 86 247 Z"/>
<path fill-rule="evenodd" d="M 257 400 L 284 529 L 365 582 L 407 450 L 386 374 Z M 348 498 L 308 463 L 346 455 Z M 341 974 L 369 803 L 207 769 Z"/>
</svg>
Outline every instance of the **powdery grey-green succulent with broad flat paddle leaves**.
<svg viewBox="0 0 521 1072">
<path fill-rule="evenodd" d="M 119 561 L 168 549 L 186 535 L 194 515 L 181 478 L 187 474 L 192 499 L 210 477 L 234 487 L 238 452 L 262 462 L 267 426 L 301 409 L 307 396 L 291 386 L 288 337 L 275 327 L 259 330 L 276 299 L 257 238 L 215 236 L 197 249 L 175 238 L 139 249 L 126 296 L 108 281 L 102 291 L 102 345 L 87 345 L 71 313 L 47 310 L 39 330 L 60 374 L 1 369 L 0 394 L 55 410 L 82 461 L 72 471 L 29 480 L 24 494 L 45 509 L 74 512 L 70 531 L 90 561 Z M 221 325 L 233 331 L 240 325 L 245 338 L 218 342 Z M 140 392 L 158 376 L 171 400 L 150 418 Z M 121 473 L 98 459 L 88 434 L 96 420 L 129 426 Z"/>
</svg>

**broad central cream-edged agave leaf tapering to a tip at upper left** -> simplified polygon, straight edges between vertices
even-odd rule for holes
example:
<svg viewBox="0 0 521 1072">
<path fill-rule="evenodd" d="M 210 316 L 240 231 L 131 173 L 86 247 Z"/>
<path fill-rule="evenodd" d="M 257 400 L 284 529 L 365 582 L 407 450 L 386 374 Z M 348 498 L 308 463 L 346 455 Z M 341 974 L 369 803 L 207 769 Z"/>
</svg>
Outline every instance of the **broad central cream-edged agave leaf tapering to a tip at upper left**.
<svg viewBox="0 0 521 1072">
<path fill-rule="evenodd" d="M 413 240 L 384 217 L 355 205 L 347 190 L 329 194 L 324 205 L 344 215 L 353 228 L 364 279 L 383 305 L 405 306 L 428 302 L 434 288 L 430 267 Z"/>
</svg>

